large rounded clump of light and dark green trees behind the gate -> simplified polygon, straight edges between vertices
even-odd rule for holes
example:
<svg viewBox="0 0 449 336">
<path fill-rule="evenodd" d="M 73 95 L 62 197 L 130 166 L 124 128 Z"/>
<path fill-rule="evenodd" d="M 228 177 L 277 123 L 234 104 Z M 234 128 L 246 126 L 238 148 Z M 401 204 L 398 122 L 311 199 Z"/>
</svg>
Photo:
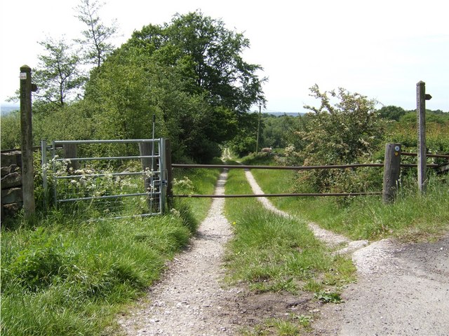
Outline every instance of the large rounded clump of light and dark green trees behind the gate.
<svg viewBox="0 0 449 336">
<path fill-rule="evenodd" d="M 240 52 L 248 41 L 201 13 L 148 25 L 91 73 L 100 137 L 169 137 L 177 160 L 208 162 L 232 139 L 253 102 L 263 101 L 256 69 Z"/>
</svg>

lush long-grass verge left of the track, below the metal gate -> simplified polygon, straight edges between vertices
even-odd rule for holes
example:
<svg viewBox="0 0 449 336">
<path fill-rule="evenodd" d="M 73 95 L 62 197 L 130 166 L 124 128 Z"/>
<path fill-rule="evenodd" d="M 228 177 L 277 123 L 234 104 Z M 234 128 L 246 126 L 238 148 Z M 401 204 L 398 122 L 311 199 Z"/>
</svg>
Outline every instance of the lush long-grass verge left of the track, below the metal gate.
<svg viewBox="0 0 449 336">
<path fill-rule="evenodd" d="M 191 181 L 195 193 L 213 193 L 218 173 L 177 176 Z M 116 332 L 115 314 L 159 278 L 209 204 L 178 200 L 166 216 L 97 222 L 50 211 L 33 225 L 19 218 L 13 230 L 2 228 L 1 335 Z"/>
</svg>

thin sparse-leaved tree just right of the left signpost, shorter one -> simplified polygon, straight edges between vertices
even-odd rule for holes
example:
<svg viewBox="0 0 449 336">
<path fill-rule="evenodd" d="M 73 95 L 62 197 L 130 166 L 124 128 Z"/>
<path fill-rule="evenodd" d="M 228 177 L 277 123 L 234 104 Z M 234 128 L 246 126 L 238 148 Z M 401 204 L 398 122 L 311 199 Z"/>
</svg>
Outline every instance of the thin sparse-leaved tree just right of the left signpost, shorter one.
<svg viewBox="0 0 449 336">
<path fill-rule="evenodd" d="M 33 73 L 33 80 L 39 91 L 34 95 L 39 104 L 50 103 L 62 107 L 78 97 L 85 77 L 79 70 L 79 57 L 65 38 L 47 38 L 39 42 L 46 54 L 39 55 L 39 64 Z"/>
</svg>

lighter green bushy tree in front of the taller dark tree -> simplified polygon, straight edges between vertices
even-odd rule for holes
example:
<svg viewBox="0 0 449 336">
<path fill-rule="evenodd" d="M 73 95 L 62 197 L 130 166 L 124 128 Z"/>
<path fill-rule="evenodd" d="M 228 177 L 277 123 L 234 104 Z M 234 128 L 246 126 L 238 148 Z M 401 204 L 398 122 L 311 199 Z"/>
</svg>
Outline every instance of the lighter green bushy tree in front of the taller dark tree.
<svg viewBox="0 0 449 336">
<path fill-rule="evenodd" d="M 151 56 L 109 57 L 86 85 L 97 137 L 151 138 L 155 115 L 155 136 L 170 138 L 175 160 L 207 162 L 220 154 L 209 136 L 214 110 L 201 95 L 184 92 L 183 87 L 179 74 Z"/>
</svg>

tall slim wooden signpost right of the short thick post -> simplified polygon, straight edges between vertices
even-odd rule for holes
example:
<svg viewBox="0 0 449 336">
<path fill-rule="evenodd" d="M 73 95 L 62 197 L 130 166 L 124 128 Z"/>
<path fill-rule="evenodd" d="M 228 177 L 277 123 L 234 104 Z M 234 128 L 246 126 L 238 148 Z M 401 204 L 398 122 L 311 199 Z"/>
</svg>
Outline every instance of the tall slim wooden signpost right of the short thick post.
<svg viewBox="0 0 449 336">
<path fill-rule="evenodd" d="M 427 187 L 426 165 L 426 100 L 431 95 L 426 94 L 426 83 L 420 81 L 416 84 L 416 105 L 418 125 L 418 188 L 420 193 L 425 193 Z"/>
</svg>

